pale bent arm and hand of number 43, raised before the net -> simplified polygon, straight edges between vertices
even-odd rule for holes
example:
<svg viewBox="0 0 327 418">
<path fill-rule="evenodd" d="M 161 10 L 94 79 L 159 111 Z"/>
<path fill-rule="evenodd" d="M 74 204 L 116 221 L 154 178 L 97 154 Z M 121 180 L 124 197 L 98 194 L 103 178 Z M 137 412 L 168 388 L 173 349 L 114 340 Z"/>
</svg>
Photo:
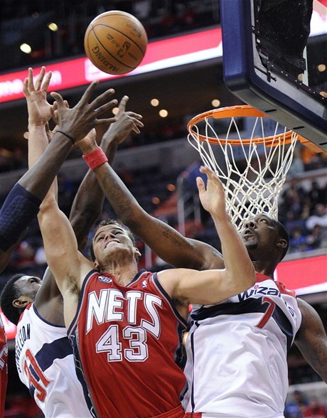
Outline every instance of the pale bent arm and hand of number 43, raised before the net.
<svg viewBox="0 0 327 418">
<path fill-rule="evenodd" d="M 191 269 L 165 270 L 158 273 L 159 281 L 173 300 L 188 304 L 216 304 L 245 291 L 255 283 L 255 272 L 247 249 L 225 208 L 225 192 L 218 176 L 208 167 L 200 171 L 208 176 L 197 184 L 203 208 L 213 217 L 223 247 L 225 269 L 196 272 Z"/>
</svg>

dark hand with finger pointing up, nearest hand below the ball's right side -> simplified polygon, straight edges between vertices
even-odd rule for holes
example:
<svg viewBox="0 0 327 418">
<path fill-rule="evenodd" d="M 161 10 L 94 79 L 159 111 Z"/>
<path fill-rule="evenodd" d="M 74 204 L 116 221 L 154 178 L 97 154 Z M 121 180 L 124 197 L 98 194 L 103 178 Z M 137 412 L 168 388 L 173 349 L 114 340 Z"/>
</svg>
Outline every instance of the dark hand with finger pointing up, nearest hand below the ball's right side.
<svg viewBox="0 0 327 418">
<path fill-rule="evenodd" d="M 122 144 L 122 142 L 129 136 L 129 134 L 134 131 L 136 134 L 140 133 L 139 128 L 143 128 L 144 124 L 141 122 L 141 114 L 126 111 L 126 105 L 129 100 L 128 96 L 124 96 L 119 102 L 118 113 L 116 115 L 117 121 L 109 126 L 107 132 L 102 136 L 103 146 L 107 141 L 114 140 L 117 145 Z"/>
</svg>

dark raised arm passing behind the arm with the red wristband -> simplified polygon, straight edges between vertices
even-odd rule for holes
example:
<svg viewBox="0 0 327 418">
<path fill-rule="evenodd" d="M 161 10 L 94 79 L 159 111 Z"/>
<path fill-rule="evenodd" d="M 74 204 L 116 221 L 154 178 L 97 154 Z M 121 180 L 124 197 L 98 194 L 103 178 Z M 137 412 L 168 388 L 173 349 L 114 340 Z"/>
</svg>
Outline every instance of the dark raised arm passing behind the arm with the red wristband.
<svg viewBox="0 0 327 418">
<path fill-rule="evenodd" d="M 117 121 L 110 124 L 109 129 L 102 136 L 100 146 L 106 154 L 109 164 L 114 161 L 119 144 L 132 131 L 139 134 L 139 127 L 143 127 L 140 114 L 126 111 L 127 101 L 128 97 L 124 96 L 119 102 Z M 95 173 L 89 169 L 78 188 L 70 211 L 70 223 L 73 225 L 80 251 L 85 248 L 87 234 L 92 225 L 100 218 L 103 202 L 104 193 L 102 188 Z"/>
</svg>

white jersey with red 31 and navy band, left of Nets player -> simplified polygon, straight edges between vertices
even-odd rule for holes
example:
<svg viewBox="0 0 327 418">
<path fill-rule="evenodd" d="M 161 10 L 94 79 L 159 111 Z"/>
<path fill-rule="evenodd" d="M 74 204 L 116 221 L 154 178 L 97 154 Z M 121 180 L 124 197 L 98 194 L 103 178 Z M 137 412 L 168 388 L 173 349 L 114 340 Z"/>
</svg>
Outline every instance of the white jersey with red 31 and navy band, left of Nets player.
<svg viewBox="0 0 327 418">
<path fill-rule="evenodd" d="M 15 354 L 19 378 L 45 417 L 91 417 L 66 328 L 45 321 L 34 304 L 18 322 Z"/>
</svg>

